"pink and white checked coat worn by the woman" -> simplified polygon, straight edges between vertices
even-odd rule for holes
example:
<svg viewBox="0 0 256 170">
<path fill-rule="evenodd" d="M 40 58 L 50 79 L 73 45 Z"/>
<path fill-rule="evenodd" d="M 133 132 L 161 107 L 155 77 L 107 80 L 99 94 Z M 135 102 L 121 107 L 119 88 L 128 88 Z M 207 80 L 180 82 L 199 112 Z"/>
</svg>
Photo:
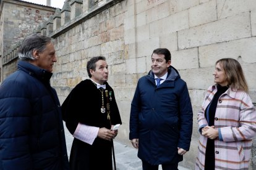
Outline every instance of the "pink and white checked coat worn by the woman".
<svg viewBox="0 0 256 170">
<path fill-rule="evenodd" d="M 198 127 L 208 125 L 205 110 L 217 92 L 211 86 L 198 111 Z M 230 88 L 220 96 L 215 113 L 215 129 L 222 140 L 215 139 L 215 169 L 248 169 L 252 138 L 256 135 L 256 111 L 249 95 Z M 200 135 L 195 169 L 204 169 L 207 138 Z"/>
</svg>

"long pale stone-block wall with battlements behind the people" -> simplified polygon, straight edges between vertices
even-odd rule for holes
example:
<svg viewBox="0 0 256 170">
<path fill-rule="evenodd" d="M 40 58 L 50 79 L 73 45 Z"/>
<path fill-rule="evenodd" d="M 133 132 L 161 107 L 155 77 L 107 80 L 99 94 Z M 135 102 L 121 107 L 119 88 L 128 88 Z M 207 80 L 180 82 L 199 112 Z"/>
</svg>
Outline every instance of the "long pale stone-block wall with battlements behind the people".
<svg viewBox="0 0 256 170">
<path fill-rule="evenodd" d="M 187 82 L 192 99 L 192 143 L 181 165 L 194 169 L 199 136 L 197 110 L 205 89 L 213 84 L 216 60 L 224 57 L 239 60 L 252 101 L 256 103 L 256 3 L 254 0 L 92 2 L 64 4 L 41 29 L 41 33 L 56 39 L 58 62 L 51 84 L 61 103 L 77 83 L 88 78 L 87 61 L 104 55 L 109 65 L 108 83 L 115 91 L 123 123 L 116 140 L 131 146 L 130 102 L 137 80 L 150 70 L 153 49 L 166 47 L 171 51 L 172 65 Z M 250 169 L 255 169 L 255 147 L 252 151 Z"/>
</svg>

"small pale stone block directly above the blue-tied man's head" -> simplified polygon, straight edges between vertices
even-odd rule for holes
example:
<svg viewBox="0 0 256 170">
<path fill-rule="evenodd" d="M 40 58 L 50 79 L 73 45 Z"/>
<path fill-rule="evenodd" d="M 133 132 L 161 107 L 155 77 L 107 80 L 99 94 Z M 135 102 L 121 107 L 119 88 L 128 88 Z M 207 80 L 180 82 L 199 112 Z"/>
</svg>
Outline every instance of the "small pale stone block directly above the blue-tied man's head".
<svg viewBox="0 0 256 170">
<path fill-rule="evenodd" d="M 177 32 L 160 35 L 160 47 L 169 51 L 177 51 Z"/>
</svg>

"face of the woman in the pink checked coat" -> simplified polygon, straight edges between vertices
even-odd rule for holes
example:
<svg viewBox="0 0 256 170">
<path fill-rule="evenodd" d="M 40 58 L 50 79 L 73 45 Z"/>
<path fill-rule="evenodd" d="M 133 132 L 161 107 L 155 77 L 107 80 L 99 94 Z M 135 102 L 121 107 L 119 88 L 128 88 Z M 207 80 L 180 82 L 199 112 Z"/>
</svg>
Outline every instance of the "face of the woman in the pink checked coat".
<svg viewBox="0 0 256 170">
<path fill-rule="evenodd" d="M 226 78 L 225 71 L 220 63 L 215 66 L 215 71 L 213 72 L 214 82 L 220 84 L 221 86 L 228 86 L 228 80 Z"/>
</svg>

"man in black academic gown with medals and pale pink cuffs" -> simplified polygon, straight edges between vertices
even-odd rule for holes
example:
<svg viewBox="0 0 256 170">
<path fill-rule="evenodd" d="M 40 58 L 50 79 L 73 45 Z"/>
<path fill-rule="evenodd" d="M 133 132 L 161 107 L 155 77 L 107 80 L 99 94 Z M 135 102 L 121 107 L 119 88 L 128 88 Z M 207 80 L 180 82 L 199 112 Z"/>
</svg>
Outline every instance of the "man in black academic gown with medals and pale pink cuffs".
<svg viewBox="0 0 256 170">
<path fill-rule="evenodd" d="M 114 91 L 106 82 L 105 57 L 93 57 L 87 63 L 90 79 L 81 81 L 62 104 L 67 129 L 74 136 L 70 168 L 74 170 L 113 170 L 111 148 L 121 124 Z M 108 96 L 106 96 L 108 95 Z"/>
</svg>

